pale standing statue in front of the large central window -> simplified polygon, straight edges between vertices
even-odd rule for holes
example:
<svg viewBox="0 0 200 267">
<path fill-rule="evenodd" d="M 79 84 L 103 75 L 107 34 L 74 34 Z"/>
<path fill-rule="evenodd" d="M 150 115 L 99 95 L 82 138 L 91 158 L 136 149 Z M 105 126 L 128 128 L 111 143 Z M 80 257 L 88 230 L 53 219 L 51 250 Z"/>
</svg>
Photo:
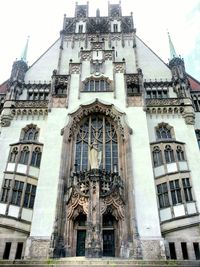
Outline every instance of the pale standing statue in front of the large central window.
<svg viewBox="0 0 200 267">
<path fill-rule="evenodd" d="M 90 145 L 89 151 L 89 163 L 91 170 L 99 169 L 101 164 L 101 151 L 98 151 L 97 140 L 94 140 L 92 145 Z"/>
</svg>

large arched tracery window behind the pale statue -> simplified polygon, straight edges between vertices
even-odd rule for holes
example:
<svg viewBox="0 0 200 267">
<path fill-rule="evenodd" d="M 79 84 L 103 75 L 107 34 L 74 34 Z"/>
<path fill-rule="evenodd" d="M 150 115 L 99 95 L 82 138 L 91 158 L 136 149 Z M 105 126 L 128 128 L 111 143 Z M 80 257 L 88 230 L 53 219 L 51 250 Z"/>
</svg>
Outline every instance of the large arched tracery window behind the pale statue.
<svg viewBox="0 0 200 267">
<path fill-rule="evenodd" d="M 113 171 L 118 167 L 118 141 L 114 125 L 109 117 L 93 114 L 86 117 L 79 126 L 76 136 L 77 170 L 89 170 L 89 151 L 95 144 L 98 148 L 100 169 Z"/>
</svg>

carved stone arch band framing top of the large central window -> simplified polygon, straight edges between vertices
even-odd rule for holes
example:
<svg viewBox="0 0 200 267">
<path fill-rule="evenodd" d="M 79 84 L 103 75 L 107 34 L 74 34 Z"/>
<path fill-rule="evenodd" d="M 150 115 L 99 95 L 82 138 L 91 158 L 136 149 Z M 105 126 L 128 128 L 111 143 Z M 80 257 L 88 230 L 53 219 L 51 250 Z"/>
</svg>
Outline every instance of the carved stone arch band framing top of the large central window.
<svg viewBox="0 0 200 267">
<path fill-rule="evenodd" d="M 114 105 L 105 105 L 99 102 L 98 99 L 95 102 L 89 105 L 81 105 L 80 108 L 74 112 L 69 114 L 71 116 L 71 122 L 69 126 L 69 140 L 73 136 L 74 132 L 77 129 L 77 124 L 85 117 L 92 113 L 103 113 L 110 116 L 116 123 L 118 130 L 120 131 L 121 135 L 124 136 L 124 128 L 122 126 L 121 117 L 123 113 L 119 112 L 115 109 Z"/>
</svg>

